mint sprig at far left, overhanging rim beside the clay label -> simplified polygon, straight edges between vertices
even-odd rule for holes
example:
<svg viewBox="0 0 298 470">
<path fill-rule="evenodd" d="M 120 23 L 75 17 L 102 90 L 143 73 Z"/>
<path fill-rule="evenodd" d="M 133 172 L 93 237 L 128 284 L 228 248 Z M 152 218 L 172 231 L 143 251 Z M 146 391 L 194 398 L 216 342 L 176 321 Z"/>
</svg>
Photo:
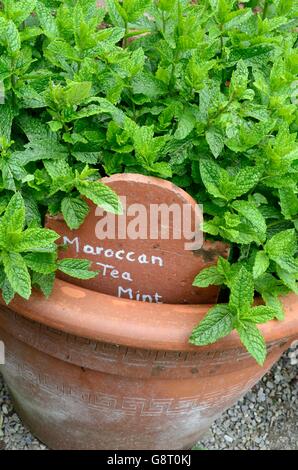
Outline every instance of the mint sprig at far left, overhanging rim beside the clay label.
<svg viewBox="0 0 298 470">
<path fill-rule="evenodd" d="M 58 238 L 53 230 L 26 226 L 25 203 L 16 192 L 0 219 L 0 287 L 6 303 L 15 294 L 29 299 L 32 285 L 50 295 L 57 270 L 79 279 L 97 275 L 87 260 L 58 260 Z"/>
</svg>

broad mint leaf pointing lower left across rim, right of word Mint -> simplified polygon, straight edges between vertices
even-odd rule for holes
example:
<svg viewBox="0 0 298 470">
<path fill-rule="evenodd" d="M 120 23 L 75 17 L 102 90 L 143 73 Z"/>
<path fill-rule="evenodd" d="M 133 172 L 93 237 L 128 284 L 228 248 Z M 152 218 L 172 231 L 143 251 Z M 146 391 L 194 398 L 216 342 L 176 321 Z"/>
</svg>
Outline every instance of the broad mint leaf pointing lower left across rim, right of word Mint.
<svg viewBox="0 0 298 470">
<path fill-rule="evenodd" d="M 199 325 L 193 330 L 190 342 L 196 346 L 211 344 L 233 330 L 233 317 L 227 305 L 218 304 L 211 308 Z"/>
</svg>

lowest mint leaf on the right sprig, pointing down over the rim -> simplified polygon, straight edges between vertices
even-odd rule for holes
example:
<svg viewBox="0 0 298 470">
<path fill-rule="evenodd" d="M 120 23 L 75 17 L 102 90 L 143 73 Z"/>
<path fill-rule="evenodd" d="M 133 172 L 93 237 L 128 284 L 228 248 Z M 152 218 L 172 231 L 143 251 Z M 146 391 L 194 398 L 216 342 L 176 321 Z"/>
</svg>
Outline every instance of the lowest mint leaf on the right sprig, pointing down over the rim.
<svg viewBox="0 0 298 470">
<path fill-rule="evenodd" d="M 266 343 L 256 325 L 248 321 L 242 322 L 237 326 L 237 331 L 247 351 L 263 366 L 267 355 Z"/>
</svg>

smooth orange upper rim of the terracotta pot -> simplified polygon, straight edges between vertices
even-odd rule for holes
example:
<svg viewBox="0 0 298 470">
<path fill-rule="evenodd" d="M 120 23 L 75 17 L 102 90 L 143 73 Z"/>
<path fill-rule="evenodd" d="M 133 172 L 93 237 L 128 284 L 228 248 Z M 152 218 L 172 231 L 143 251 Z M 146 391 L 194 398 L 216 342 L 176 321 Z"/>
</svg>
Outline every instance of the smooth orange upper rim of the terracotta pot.
<svg viewBox="0 0 298 470">
<path fill-rule="evenodd" d="M 260 326 L 267 342 L 298 337 L 298 296 L 288 294 L 281 300 L 286 319 Z M 2 298 L 0 303 L 5 305 Z M 210 306 L 119 299 L 57 279 L 49 299 L 34 290 L 29 300 L 16 296 L 6 308 L 48 327 L 94 341 L 149 350 L 198 351 L 188 338 Z M 241 348 L 235 332 L 199 349 L 211 352 L 234 348 Z"/>
</svg>

